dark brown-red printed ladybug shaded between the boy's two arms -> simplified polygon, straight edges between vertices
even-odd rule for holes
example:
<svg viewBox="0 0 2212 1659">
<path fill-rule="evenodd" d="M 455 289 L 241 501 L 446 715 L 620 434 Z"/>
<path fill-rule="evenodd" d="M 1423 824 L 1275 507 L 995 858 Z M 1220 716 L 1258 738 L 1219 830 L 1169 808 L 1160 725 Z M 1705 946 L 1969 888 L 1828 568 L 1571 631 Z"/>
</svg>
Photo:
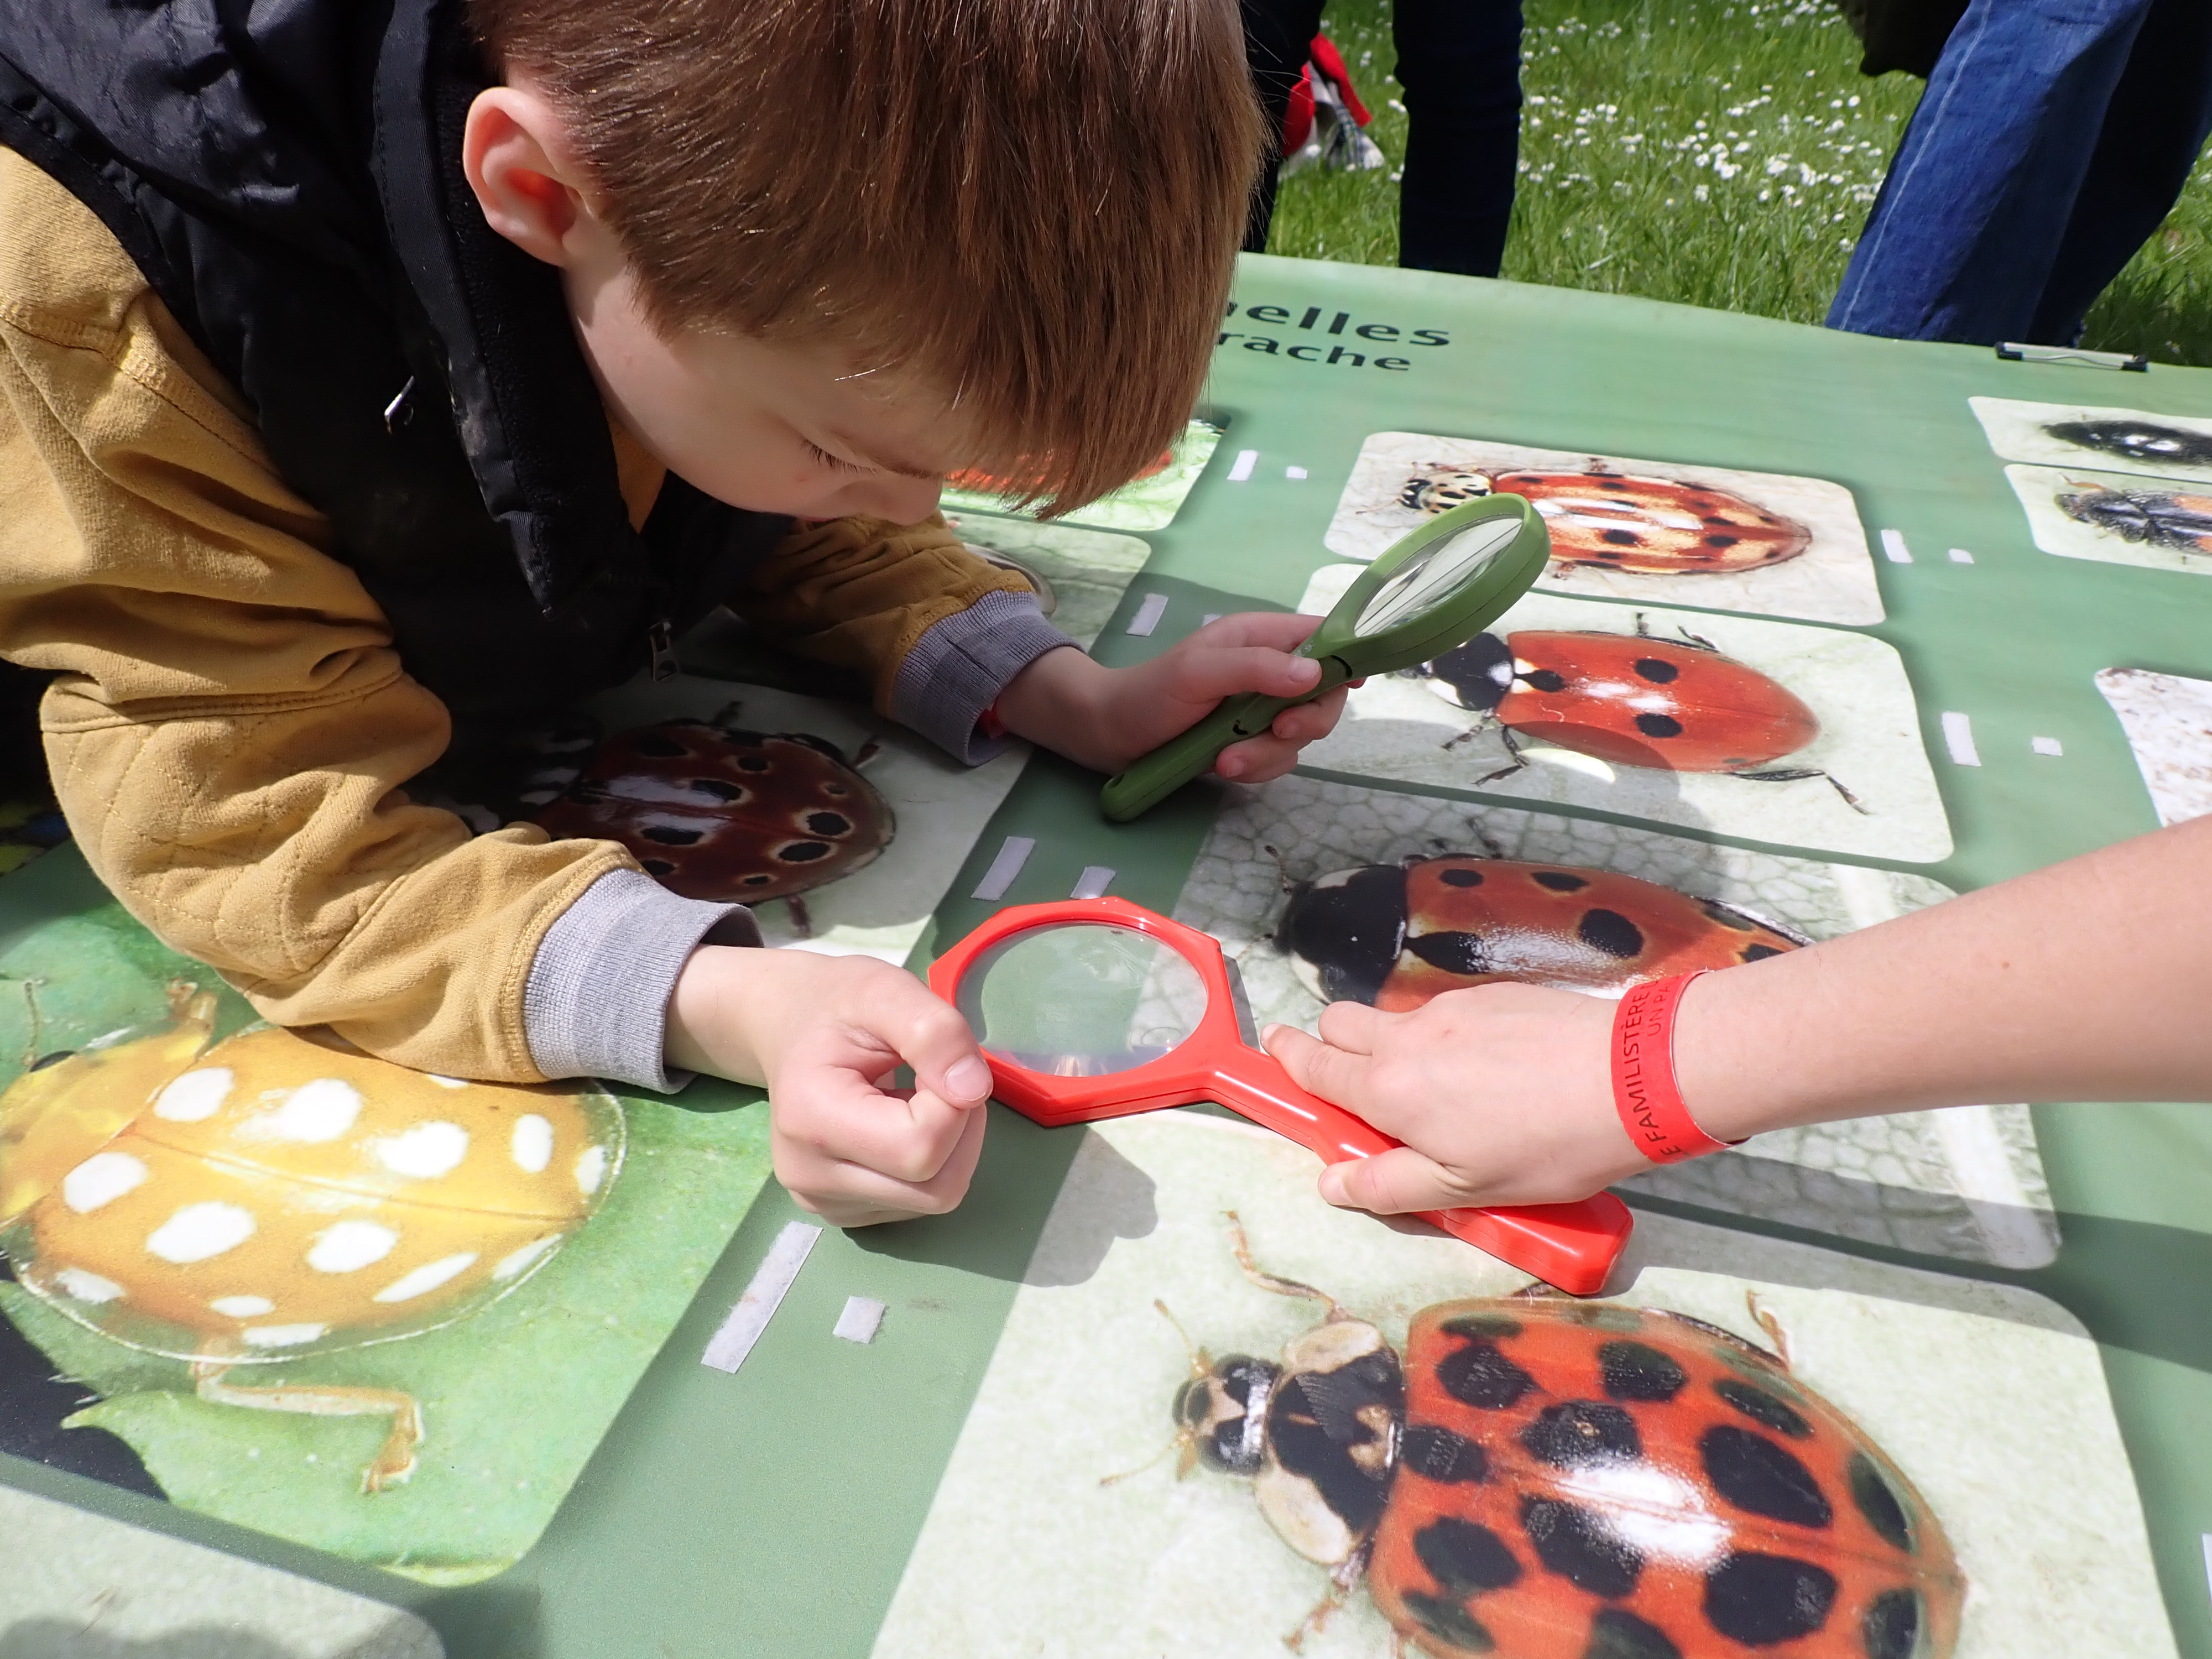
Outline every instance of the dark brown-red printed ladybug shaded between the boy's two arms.
<svg viewBox="0 0 2212 1659">
<path fill-rule="evenodd" d="M 659 721 L 611 737 L 538 823 L 619 841 L 686 898 L 799 898 L 891 845 L 891 805 L 856 759 L 807 732 Z"/>
</svg>

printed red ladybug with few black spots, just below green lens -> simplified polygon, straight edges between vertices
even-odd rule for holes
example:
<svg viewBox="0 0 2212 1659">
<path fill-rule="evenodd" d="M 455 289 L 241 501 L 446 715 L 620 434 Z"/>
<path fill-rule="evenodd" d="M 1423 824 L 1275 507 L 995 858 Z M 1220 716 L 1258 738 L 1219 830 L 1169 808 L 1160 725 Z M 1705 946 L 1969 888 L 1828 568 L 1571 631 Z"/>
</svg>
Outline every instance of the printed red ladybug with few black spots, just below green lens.
<svg viewBox="0 0 2212 1659">
<path fill-rule="evenodd" d="M 1820 737 L 1820 719 L 1803 697 L 1694 633 L 1655 639 L 1641 615 L 1632 635 L 1595 628 L 1475 635 L 1413 672 L 1447 703 L 1502 728 L 1511 765 L 1478 783 L 1526 765 L 1515 743 L 1515 734 L 1526 734 L 1613 765 L 1725 772 L 1754 783 L 1827 779 L 1865 812 L 1827 772 L 1774 765 Z"/>
</svg>

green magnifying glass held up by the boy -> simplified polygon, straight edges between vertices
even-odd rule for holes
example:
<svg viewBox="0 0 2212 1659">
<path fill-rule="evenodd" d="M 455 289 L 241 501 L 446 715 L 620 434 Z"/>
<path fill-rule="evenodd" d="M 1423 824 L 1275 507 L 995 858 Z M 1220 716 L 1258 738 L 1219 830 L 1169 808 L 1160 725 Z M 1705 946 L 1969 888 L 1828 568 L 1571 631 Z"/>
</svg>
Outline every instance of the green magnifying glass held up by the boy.
<svg viewBox="0 0 2212 1659">
<path fill-rule="evenodd" d="M 1484 495 L 1440 513 L 1369 564 L 1298 646 L 1298 657 L 1321 664 L 1310 692 L 1223 699 L 1188 732 L 1108 779 L 1099 805 L 1128 823 L 1210 770 L 1230 743 L 1265 732 L 1285 708 L 1464 646 L 1528 591 L 1548 557 L 1551 533 L 1522 495 Z"/>
</svg>

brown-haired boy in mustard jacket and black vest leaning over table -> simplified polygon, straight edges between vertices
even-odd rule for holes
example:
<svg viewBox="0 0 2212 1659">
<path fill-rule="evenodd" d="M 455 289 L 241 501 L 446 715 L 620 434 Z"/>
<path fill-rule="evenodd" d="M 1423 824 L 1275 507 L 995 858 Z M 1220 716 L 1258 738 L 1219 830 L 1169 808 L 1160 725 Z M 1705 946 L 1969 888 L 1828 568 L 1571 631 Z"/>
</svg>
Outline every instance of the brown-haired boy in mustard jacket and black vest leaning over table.
<svg viewBox="0 0 2212 1659">
<path fill-rule="evenodd" d="M 807 1208 L 958 1203 L 989 1073 L 911 975 L 405 785 L 719 602 L 964 759 L 1310 686 L 1294 617 L 1102 670 L 933 515 L 1181 429 L 1259 157 L 1234 4 L 0 0 L 0 653 L 108 887 L 272 1020 L 765 1082 Z"/>
</svg>

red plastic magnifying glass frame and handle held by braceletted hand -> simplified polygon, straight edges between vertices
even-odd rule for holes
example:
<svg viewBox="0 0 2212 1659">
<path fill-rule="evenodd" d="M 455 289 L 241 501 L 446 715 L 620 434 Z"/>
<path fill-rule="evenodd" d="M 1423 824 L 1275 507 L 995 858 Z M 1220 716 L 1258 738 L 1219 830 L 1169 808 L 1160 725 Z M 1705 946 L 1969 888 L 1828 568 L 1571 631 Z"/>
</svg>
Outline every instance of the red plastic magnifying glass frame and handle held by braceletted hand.
<svg viewBox="0 0 2212 1659">
<path fill-rule="evenodd" d="M 1212 1099 L 1287 1135 L 1325 1164 L 1400 1146 L 1340 1106 L 1307 1095 L 1272 1055 L 1243 1042 L 1237 991 L 1219 940 L 1126 898 L 1064 898 L 1002 909 L 931 962 L 929 989 L 960 1006 L 962 978 L 993 947 L 1035 929 L 1068 925 L 1128 927 L 1177 951 L 1206 987 L 1206 1013 L 1168 1053 L 1106 1075 L 1031 1071 L 1011 1055 L 984 1048 L 993 1093 L 1006 1106 L 1057 1128 Z M 989 969 L 989 962 L 982 967 Z M 1595 1296 L 1604 1287 L 1635 1225 L 1628 1206 L 1610 1192 L 1579 1203 L 1425 1210 L 1420 1219 L 1575 1296 Z"/>
</svg>

